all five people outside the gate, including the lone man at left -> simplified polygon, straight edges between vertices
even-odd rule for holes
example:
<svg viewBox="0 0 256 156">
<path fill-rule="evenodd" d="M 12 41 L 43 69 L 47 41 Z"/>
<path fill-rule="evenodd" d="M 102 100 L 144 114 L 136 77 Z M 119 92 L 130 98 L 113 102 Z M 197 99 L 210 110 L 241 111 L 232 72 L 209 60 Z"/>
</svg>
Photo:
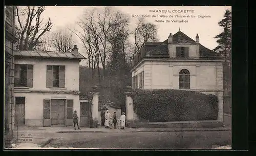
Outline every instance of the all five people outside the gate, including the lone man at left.
<svg viewBox="0 0 256 156">
<path fill-rule="evenodd" d="M 106 113 L 105 113 L 105 111 L 102 109 L 101 113 L 100 113 L 100 117 L 101 117 L 101 126 L 105 126 L 105 128 L 110 128 L 111 123 L 113 123 L 114 128 L 116 129 L 116 125 L 117 125 L 117 121 L 118 121 L 116 112 L 114 112 L 113 119 L 112 119 L 111 114 L 109 113 L 109 110 L 106 110 Z M 73 123 L 74 123 L 75 129 L 76 129 L 76 125 L 77 125 L 77 129 L 80 129 L 79 124 L 78 124 L 78 116 L 77 116 L 76 110 L 74 111 L 74 114 L 73 114 Z M 120 126 L 121 126 L 121 129 L 124 129 L 124 126 L 125 126 L 124 112 L 122 113 L 122 115 L 120 117 Z"/>
</svg>

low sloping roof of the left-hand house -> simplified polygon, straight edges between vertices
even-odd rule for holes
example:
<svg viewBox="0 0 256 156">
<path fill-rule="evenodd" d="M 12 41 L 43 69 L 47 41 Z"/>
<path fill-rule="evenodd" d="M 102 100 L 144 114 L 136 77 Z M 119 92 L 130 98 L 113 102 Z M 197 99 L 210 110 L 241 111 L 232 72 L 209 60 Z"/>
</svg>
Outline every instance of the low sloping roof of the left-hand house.
<svg viewBox="0 0 256 156">
<path fill-rule="evenodd" d="M 87 59 L 80 53 L 64 53 L 64 52 L 43 52 L 43 51 L 14 51 L 14 56 L 26 57 L 47 57 L 47 58 L 71 58 L 71 59 Z"/>
</svg>

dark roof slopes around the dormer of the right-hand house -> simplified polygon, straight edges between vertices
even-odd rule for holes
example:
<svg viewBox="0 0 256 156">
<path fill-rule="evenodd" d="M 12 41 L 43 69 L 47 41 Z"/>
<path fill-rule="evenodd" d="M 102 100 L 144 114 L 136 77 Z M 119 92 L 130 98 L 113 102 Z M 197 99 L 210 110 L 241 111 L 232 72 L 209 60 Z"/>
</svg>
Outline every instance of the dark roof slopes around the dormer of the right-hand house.
<svg viewBox="0 0 256 156">
<path fill-rule="evenodd" d="M 191 39 L 181 31 L 178 31 L 176 34 L 173 35 L 173 43 L 178 43 L 182 40 L 185 40 L 190 43 L 196 43 L 195 40 Z M 147 47 L 147 45 L 156 45 L 156 44 L 158 44 L 158 46 L 155 46 L 154 48 L 151 48 L 150 51 L 146 52 L 146 57 L 161 57 L 161 58 L 168 57 L 168 47 L 167 47 L 168 39 L 166 39 L 163 42 L 154 42 L 154 43 L 146 42 L 145 47 Z M 208 48 L 204 47 L 202 44 L 199 44 L 199 53 L 200 53 L 200 57 L 220 56 L 219 53 L 209 50 Z"/>
</svg>

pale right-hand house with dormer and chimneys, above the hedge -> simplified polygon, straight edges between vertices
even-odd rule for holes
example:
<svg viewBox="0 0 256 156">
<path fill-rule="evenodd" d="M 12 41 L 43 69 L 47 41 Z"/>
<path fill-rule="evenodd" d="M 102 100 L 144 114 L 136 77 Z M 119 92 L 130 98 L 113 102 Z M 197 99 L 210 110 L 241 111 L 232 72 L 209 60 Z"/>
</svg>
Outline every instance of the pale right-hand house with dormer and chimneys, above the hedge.
<svg viewBox="0 0 256 156">
<path fill-rule="evenodd" d="M 223 57 L 181 31 L 163 42 L 146 42 L 136 55 L 132 87 L 177 89 L 217 95 L 223 121 Z"/>
</svg>

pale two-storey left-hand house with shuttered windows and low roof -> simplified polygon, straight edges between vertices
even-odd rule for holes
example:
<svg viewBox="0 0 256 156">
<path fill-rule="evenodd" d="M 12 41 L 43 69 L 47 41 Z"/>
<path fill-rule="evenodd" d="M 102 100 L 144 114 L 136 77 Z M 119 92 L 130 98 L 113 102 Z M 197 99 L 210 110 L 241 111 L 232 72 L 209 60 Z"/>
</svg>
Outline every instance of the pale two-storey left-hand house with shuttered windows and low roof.
<svg viewBox="0 0 256 156">
<path fill-rule="evenodd" d="M 72 53 L 15 51 L 14 95 L 17 123 L 28 126 L 73 125 L 80 116 L 79 62 Z"/>
</svg>

